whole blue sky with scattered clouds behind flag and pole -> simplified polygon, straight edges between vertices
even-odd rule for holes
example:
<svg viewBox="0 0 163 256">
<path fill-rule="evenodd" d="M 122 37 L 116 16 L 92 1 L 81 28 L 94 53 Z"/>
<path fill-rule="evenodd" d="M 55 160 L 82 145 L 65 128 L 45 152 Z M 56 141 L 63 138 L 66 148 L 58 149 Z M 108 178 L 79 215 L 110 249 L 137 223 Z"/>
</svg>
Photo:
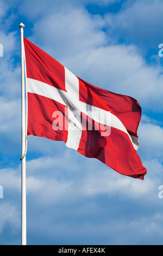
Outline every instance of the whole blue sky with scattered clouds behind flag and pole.
<svg viewBox="0 0 163 256">
<path fill-rule="evenodd" d="M 28 136 L 28 245 L 162 245 L 161 0 L 1 0 L 0 245 L 21 244 L 21 59 L 24 36 L 73 74 L 139 101 L 145 180 L 63 142 Z"/>
</svg>

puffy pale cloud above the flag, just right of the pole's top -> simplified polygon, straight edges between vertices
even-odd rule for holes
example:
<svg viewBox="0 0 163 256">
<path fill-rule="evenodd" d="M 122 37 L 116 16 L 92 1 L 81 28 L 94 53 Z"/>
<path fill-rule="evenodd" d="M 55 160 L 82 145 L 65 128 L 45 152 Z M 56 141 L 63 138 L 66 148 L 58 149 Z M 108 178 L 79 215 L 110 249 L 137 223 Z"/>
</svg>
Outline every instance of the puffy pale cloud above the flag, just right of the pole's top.
<svg viewBox="0 0 163 256">
<path fill-rule="evenodd" d="M 55 58 L 64 59 L 106 44 L 103 26 L 100 16 L 93 17 L 82 8 L 68 8 L 37 21 L 31 39 Z"/>
</svg>

